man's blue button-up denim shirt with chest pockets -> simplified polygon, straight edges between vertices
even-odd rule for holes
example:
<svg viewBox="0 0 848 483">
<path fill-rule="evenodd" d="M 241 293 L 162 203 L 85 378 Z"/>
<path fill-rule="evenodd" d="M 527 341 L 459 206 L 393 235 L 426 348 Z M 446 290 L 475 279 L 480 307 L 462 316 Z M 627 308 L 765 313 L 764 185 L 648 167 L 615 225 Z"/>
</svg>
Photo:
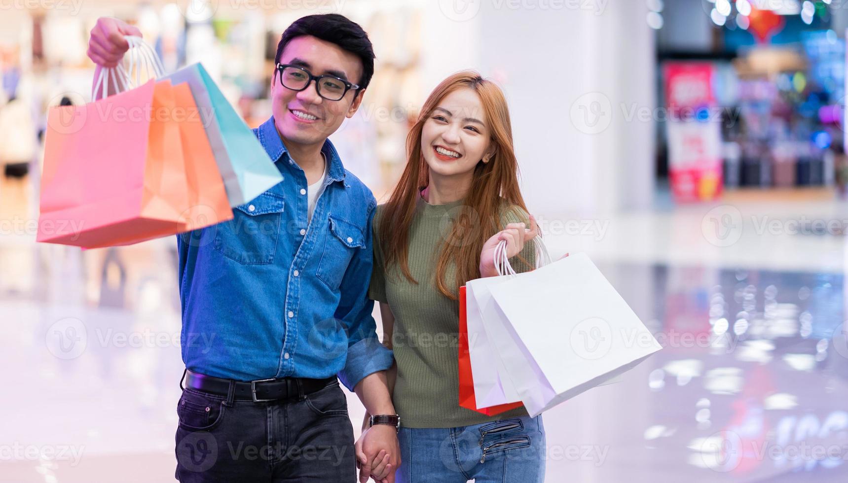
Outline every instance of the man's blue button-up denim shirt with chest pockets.
<svg viewBox="0 0 848 483">
<path fill-rule="evenodd" d="M 233 219 L 177 236 L 182 360 L 235 380 L 326 378 L 349 390 L 388 369 L 368 298 L 374 195 L 328 140 L 324 191 L 307 223 L 304 170 L 274 118 L 254 130 L 283 180 Z"/>
</svg>

